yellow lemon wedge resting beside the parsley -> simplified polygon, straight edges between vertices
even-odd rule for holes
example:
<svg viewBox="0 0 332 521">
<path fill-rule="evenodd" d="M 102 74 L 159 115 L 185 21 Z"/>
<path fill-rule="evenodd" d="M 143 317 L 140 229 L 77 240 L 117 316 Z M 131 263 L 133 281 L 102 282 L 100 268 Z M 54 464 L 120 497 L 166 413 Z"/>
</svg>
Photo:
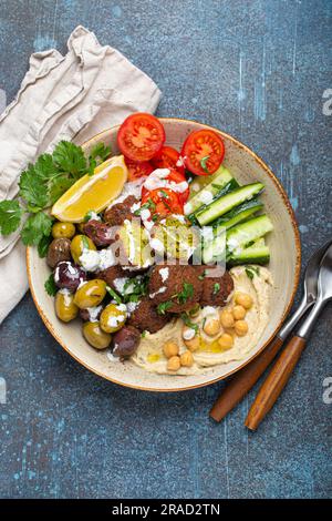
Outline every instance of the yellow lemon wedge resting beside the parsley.
<svg viewBox="0 0 332 521">
<path fill-rule="evenodd" d="M 53 205 L 52 215 L 59 221 L 80 223 L 87 212 L 102 212 L 121 194 L 127 175 L 124 156 L 111 157 L 93 175 L 76 181 Z"/>
</svg>

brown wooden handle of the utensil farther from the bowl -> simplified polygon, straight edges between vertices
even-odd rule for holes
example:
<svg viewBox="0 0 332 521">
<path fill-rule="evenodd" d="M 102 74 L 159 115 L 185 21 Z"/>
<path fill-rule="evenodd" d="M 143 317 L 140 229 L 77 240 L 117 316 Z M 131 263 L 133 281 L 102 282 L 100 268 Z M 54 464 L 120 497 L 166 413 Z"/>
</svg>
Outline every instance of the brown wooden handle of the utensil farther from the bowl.
<svg viewBox="0 0 332 521">
<path fill-rule="evenodd" d="M 293 336 L 273 365 L 269 376 L 262 384 L 248 412 L 245 425 L 256 430 L 269 410 L 273 407 L 282 389 L 286 387 L 305 346 L 305 339 Z"/>
</svg>

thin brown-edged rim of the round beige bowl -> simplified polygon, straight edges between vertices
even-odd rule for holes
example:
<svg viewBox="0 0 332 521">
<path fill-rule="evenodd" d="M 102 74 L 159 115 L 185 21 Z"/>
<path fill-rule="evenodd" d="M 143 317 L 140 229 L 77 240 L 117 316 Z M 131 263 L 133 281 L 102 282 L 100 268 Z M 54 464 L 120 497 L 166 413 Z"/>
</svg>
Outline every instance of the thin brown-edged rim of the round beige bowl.
<svg viewBox="0 0 332 521">
<path fill-rule="evenodd" d="M 300 275 L 301 275 L 301 239 L 300 239 L 300 232 L 299 232 L 297 218 L 295 218 L 295 215 L 294 215 L 294 211 L 293 211 L 293 208 L 290 204 L 289 197 L 288 197 L 283 186 L 281 185 L 280 181 L 276 177 L 276 175 L 272 173 L 272 171 L 269 168 L 269 166 L 264 163 L 264 161 L 259 155 L 257 155 L 247 145 L 245 145 L 243 143 L 241 143 L 239 140 L 237 140 L 232 135 L 228 134 L 227 132 L 220 131 L 219 129 L 217 129 L 215 126 L 207 125 L 205 123 L 200 123 L 199 121 L 187 120 L 187 119 L 181 119 L 181 118 L 158 118 L 158 120 L 164 121 L 164 122 L 177 121 L 177 122 L 181 122 L 181 123 L 196 123 L 196 124 L 199 124 L 201 127 L 210 129 L 210 130 L 217 132 L 218 134 L 220 134 L 221 136 L 226 137 L 227 140 L 230 140 L 234 144 L 236 144 L 237 146 L 239 146 L 240 149 L 242 149 L 243 151 L 246 151 L 248 154 L 250 154 L 253 157 L 253 160 L 262 167 L 264 173 L 271 178 L 271 181 L 273 182 L 277 191 L 279 192 L 279 194 L 281 195 L 281 197 L 283 200 L 283 204 L 284 204 L 284 206 L 288 211 L 288 214 L 290 216 L 290 219 L 291 219 L 291 224 L 292 224 L 292 228 L 293 228 L 293 233 L 294 233 L 294 239 L 295 239 L 297 259 L 295 259 L 294 282 L 293 282 L 292 293 L 290 295 L 289 303 L 286 306 L 283 315 L 280 318 L 279 324 L 276 327 L 274 331 L 270 335 L 270 337 L 261 346 L 261 348 L 258 351 L 256 351 L 250 358 L 246 359 L 242 364 L 240 364 L 235 369 L 229 370 L 227 374 L 218 376 L 217 378 L 212 378 L 210 380 L 207 380 L 207 381 L 204 381 L 204 382 L 200 382 L 200 384 L 190 385 L 190 386 L 187 386 L 187 387 L 172 388 L 172 389 L 162 388 L 162 387 L 160 388 L 155 388 L 155 387 L 151 388 L 151 387 L 146 387 L 146 386 L 138 386 L 138 385 L 123 382 L 121 380 L 116 380 L 115 378 L 111 378 L 110 376 L 105 376 L 103 372 L 96 370 L 94 367 L 90 366 L 86 362 L 83 362 L 77 356 L 73 355 L 73 353 L 66 347 L 65 343 L 62 341 L 58 337 L 52 324 L 50 323 L 49 318 L 46 317 L 43 309 L 39 305 L 38 297 L 35 295 L 35 292 L 34 292 L 34 288 L 33 288 L 33 285 L 32 285 L 32 277 L 31 277 L 31 270 L 30 270 L 30 248 L 31 248 L 31 246 L 27 247 L 27 273 L 28 273 L 28 282 L 29 282 L 29 287 L 30 287 L 30 290 L 31 290 L 32 299 L 34 302 L 34 305 L 37 307 L 37 310 L 38 310 L 39 315 L 41 316 L 41 319 L 43 320 L 44 325 L 46 326 L 46 328 L 49 329 L 49 331 L 51 333 L 53 338 L 81 366 L 85 367 L 85 369 L 89 369 L 90 371 L 94 372 L 95 375 L 104 378 L 105 380 L 112 381 L 113 384 L 117 384 L 122 387 L 128 387 L 131 389 L 151 391 L 151 392 L 179 392 L 179 391 L 186 391 L 186 390 L 191 390 L 191 389 L 198 389 L 200 387 L 210 386 L 212 384 L 216 384 L 217 381 L 220 381 L 220 380 L 224 380 L 225 378 L 228 378 L 229 376 L 234 375 L 235 372 L 239 371 L 240 369 L 246 367 L 248 364 L 250 364 L 250 361 L 252 361 L 257 356 L 259 356 L 263 351 L 263 349 L 273 340 L 273 338 L 278 334 L 283 320 L 286 319 L 286 317 L 288 316 L 288 314 L 291 310 L 291 307 L 293 305 L 295 294 L 297 294 L 297 290 L 298 290 L 298 286 L 299 286 L 299 282 L 300 282 Z M 81 146 L 82 147 L 87 147 L 89 144 L 91 142 L 94 142 L 97 136 L 104 134 L 105 132 L 114 131 L 115 129 L 118 129 L 118 127 L 120 127 L 120 125 L 114 125 L 114 126 L 111 126 L 110 129 L 105 129 L 104 131 L 98 132 L 97 134 L 92 136 L 90 140 L 82 143 Z"/>
</svg>

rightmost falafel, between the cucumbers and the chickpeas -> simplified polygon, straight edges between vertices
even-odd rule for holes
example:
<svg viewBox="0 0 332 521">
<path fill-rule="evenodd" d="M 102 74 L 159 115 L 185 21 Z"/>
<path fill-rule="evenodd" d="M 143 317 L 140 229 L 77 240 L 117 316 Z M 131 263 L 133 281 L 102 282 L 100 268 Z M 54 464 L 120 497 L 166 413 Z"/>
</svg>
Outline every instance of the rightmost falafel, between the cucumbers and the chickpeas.
<svg viewBox="0 0 332 521">
<path fill-rule="evenodd" d="M 200 306 L 225 306 L 227 298 L 234 290 L 234 282 L 229 272 L 225 270 L 224 275 L 216 273 L 215 267 L 196 266 L 199 275 L 205 273 L 203 279 L 203 292 L 200 297 Z"/>
</svg>

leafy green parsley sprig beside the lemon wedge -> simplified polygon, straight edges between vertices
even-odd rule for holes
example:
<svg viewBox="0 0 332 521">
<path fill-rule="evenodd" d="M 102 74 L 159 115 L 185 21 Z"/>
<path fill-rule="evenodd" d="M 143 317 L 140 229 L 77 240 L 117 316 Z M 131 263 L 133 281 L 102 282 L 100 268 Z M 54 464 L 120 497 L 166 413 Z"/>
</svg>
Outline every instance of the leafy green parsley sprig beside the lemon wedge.
<svg viewBox="0 0 332 521">
<path fill-rule="evenodd" d="M 23 215 L 29 214 L 21 231 L 22 242 L 38 246 L 40 256 L 45 256 L 53 224 L 48 208 L 80 177 L 92 174 L 110 154 L 110 147 L 98 143 L 86 160 L 83 149 L 69 141 L 61 141 L 52 154 L 41 154 L 21 173 L 19 197 L 0 203 L 1 235 L 15 232 Z"/>
</svg>

